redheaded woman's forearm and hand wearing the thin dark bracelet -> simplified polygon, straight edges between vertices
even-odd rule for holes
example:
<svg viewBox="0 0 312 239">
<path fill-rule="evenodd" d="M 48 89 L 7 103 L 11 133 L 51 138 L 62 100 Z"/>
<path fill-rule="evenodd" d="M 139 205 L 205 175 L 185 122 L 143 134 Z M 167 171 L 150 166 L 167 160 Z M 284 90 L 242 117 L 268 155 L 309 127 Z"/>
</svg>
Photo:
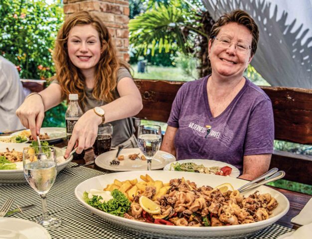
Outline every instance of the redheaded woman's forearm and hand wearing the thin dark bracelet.
<svg viewBox="0 0 312 239">
<path fill-rule="evenodd" d="M 35 139 L 40 133 L 44 112 L 61 103 L 61 87 L 50 84 L 38 94 L 27 97 L 23 104 L 16 110 L 16 115 L 21 123 L 30 129 L 31 136 Z"/>
</svg>

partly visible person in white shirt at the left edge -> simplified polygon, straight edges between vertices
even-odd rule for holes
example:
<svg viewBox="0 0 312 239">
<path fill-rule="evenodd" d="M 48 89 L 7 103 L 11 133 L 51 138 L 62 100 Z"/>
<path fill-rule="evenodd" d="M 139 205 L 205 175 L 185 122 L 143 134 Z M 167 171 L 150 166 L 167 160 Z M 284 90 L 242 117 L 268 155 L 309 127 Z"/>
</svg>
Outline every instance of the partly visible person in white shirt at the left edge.
<svg viewBox="0 0 312 239">
<path fill-rule="evenodd" d="M 24 128 L 15 115 L 24 98 L 15 65 L 0 56 L 0 132 Z"/>
</svg>

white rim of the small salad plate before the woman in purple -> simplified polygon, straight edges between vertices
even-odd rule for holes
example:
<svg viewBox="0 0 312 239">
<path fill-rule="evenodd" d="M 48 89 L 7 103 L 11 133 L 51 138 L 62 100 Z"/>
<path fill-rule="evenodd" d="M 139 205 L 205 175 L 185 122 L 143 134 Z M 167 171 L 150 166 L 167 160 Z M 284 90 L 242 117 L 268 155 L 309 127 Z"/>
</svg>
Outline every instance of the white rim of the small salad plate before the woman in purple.
<svg viewBox="0 0 312 239">
<path fill-rule="evenodd" d="M 228 164 L 228 163 L 224 163 L 224 162 L 221 162 L 221 161 L 216 161 L 216 160 L 210 160 L 210 159 L 184 159 L 184 160 L 178 160 L 176 162 L 174 162 L 174 164 L 176 163 L 196 163 L 198 165 L 202 164 L 204 165 L 204 167 L 207 167 L 207 168 L 210 168 L 210 167 L 224 167 L 224 166 L 229 166 L 232 168 L 232 172 L 231 174 L 229 175 L 230 177 L 234 177 L 234 178 L 237 178 L 240 174 L 239 170 L 237 167 L 231 165 L 231 164 Z M 168 163 L 164 168 L 163 170 L 165 171 L 170 171 L 170 166 L 171 166 L 171 163 Z M 171 171 L 174 171 L 173 168 L 171 168 Z"/>
</svg>

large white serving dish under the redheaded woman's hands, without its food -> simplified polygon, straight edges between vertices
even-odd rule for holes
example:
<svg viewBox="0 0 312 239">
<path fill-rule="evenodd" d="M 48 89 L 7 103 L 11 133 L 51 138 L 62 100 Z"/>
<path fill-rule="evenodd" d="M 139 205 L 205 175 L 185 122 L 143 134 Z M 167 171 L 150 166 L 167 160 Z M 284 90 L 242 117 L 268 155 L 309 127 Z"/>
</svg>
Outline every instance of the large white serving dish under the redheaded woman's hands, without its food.
<svg viewBox="0 0 312 239">
<path fill-rule="evenodd" d="M 23 148 L 29 147 L 29 143 L 0 143 L 0 152 L 5 152 L 6 148 L 9 150 L 15 149 L 15 151 L 22 152 Z M 65 149 L 54 147 L 56 157 L 64 156 Z M 73 159 L 71 155 L 65 162 L 57 164 L 57 173 L 59 173 L 66 165 Z M 27 183 L 23 169 L 9 169 L 9 170 L 0 170 L 0 184 L 15 184 L 15 183 Z"/>
</svg>

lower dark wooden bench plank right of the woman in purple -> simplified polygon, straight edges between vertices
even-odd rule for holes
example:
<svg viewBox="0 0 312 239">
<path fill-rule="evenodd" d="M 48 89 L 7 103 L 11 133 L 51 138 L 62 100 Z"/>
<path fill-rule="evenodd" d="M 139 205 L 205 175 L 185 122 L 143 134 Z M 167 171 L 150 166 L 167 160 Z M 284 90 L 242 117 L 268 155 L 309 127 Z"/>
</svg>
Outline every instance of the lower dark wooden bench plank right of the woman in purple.
<svg viewBox="0 0 312 239">
<path fill-rule="evenodd" d="M 270 168 L 285 171 L 286 180 L 312 185 L 312 156 L 274 150 Z"/>
</svg>

